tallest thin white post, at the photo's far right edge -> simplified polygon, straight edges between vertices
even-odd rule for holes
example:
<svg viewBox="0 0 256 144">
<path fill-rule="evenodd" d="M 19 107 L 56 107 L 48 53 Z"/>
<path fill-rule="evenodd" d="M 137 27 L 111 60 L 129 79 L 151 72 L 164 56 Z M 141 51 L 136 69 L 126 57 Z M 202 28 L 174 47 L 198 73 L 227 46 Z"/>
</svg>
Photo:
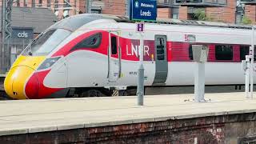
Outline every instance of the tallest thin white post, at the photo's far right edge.
<svg viewBox="0 0 256 144">
<path fill-rule="evenodd" d="M 250 54 L 250 98 L 254 98 L 254 26 L 252 26 Z"/>
</svg>

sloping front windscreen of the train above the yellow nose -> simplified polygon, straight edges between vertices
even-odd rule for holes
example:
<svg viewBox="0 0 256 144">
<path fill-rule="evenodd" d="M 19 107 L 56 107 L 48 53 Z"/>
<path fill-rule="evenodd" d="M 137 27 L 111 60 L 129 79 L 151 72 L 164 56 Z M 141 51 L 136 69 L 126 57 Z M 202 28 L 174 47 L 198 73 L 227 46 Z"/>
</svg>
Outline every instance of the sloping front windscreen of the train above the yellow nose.
<svg viewBox="0 0 256 144">
<path fill-rule="evenodd" d="M 69 30 L 64 29 L 48 30 L 35 38 L 22 52 L 22 55 L 42 56 L 50 54 L 70 34 Z"/>
</svg>

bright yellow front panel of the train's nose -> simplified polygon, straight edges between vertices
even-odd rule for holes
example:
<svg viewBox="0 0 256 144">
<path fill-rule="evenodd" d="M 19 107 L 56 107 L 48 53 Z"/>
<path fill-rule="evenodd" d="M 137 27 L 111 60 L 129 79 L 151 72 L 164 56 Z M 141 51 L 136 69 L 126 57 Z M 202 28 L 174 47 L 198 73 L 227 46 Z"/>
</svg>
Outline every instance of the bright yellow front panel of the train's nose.
<svg viewBox="0 0 256 144">
<path fill-rule="evenodd" d="M 25 86 L 34 70 L 45 60 L 45 57 L 20 56 L 6 75 L 4 82 L 6 94 L 15 99 L 26 99 Z"/>
</svg>

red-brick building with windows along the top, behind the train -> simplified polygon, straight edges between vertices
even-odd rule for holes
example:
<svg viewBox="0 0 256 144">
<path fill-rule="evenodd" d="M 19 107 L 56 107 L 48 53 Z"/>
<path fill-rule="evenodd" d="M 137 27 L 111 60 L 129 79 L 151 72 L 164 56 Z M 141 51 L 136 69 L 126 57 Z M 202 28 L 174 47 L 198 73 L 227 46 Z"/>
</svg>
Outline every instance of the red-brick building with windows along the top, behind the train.
<svg viewBox="0 0 256 144">
<path fill-rule="evenodd" d="M 58 16 L 58 19 L 74 14 L 98 13 L 128 15 L 129 0 L 17 0 L 14 6 L 48 8 Z M 251 5 L 239 5 L 236 0 L 226 0 L 226 6 L 174 6 L 173 0 L 158 0 L 169 2 L 171 6 L 159 6 L 158 18 L 194 19 L 194 13 L 200 9 L 211 21 L 240 23 L 242 18 L 256 22 L 256 8 Z M 177 0 L 176 0 L 177 1 Z"/>
</svg>

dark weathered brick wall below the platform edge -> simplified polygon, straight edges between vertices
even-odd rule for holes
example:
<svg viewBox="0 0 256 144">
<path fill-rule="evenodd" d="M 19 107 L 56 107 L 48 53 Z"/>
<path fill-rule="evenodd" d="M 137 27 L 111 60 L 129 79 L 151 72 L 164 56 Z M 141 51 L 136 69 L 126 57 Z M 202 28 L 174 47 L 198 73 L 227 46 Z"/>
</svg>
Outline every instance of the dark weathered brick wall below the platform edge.
<svg viewBox="0 0 256 144">
<path fill-rule="evenodd" d="M 0 143 L 239 143 L 255 138 L 256 113 L 1 136 Z"/>
</svg>

